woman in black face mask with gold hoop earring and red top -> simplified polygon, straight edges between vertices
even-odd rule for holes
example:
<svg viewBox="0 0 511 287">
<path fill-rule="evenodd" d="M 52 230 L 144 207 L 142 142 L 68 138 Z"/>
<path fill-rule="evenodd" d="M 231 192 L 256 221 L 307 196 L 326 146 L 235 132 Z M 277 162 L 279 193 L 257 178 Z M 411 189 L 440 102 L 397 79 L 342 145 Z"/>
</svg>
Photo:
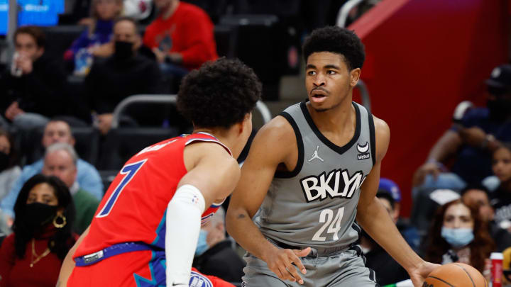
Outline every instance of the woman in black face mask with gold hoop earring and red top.
<svg viewBox="0 0 511 287">
<path fill-rule="evenodd" d="M 54 287 L 77 236 L 70 191 L 53 176 L 29 179 L 14 207 L 13 234 L 0 247 L 0 286 Z"/>
</svg>

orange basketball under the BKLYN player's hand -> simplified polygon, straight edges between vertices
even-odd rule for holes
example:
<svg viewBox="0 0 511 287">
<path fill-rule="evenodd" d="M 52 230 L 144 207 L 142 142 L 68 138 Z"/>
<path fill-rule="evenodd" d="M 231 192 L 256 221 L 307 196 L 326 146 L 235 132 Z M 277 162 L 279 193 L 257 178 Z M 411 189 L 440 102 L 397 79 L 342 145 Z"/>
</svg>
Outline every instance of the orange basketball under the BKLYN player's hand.
<svg viewBox="0 0 511 287">
<path fill-rule="evenodd" d="M 445 264 L 430 273 L 422 287 L 487 287 L 480 272 L 468 264 Z"/>
</svg>

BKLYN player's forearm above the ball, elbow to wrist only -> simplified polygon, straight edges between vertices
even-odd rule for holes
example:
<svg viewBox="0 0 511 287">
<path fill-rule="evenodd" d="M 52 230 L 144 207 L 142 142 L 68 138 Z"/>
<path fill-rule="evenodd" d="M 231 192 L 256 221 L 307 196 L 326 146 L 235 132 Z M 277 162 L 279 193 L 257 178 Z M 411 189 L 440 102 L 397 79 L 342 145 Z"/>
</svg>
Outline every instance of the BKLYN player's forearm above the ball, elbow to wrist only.
<svg viewBox="0 0 511 287">
<path fill-rule="evenodd" d="M 357 222 L 409 273 L 424 261 L 401 236 L 378 198 L 375 198 L 366 209 L 358 210 Z"/>
</svg>

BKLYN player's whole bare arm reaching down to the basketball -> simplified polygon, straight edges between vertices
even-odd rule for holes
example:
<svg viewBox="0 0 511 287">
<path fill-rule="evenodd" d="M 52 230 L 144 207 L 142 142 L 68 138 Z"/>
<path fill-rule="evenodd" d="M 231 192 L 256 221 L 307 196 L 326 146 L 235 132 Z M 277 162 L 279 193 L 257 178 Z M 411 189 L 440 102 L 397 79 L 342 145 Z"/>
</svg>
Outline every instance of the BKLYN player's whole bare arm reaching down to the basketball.
<svg viewBox="0 0 511 287">
<path fill-rule="evenodd" d="M 380 181 L 381 161 L 388 149 L 390 130 L 387 123 L 374 118 L 376 131 L 376 163 L 361 186 L 361 198 L 358 201 L 357 222 L 370 237 L 378 242 L 412 278 L 415 287 L 421 287 L 422 282 L 437 265 L 420 258 L 392 222 L 387 210 L 376 198 Z"/>
</svg>

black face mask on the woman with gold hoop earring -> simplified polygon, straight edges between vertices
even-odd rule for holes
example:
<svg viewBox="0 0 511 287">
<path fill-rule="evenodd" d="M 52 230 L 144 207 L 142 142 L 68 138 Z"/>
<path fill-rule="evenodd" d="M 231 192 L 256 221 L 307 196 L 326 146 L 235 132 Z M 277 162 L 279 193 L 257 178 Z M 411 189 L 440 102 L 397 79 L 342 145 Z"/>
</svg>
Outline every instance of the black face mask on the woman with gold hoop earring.
<svg viewBox="0 0 511 287">
<path fill-rule="evenodd" d="M 31 234 L 40 232 L 50 223 L 57 213 L 58 206 L 48 206 L 44 203 L 27 204 L 21 218 L 21 228 Z"/>
</svg>

